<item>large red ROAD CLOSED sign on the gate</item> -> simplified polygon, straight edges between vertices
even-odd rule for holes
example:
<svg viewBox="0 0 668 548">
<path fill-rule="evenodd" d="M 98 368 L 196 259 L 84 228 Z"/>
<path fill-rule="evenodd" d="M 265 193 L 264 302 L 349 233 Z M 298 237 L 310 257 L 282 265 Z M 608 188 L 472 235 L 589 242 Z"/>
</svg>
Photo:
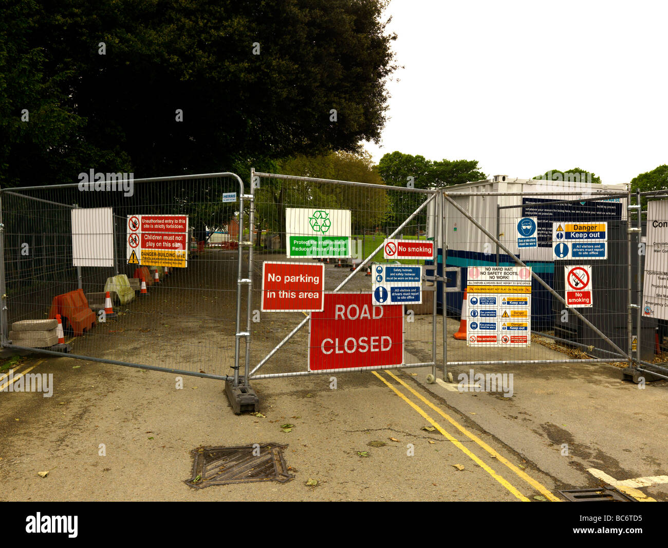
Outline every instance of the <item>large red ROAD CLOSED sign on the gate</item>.
<svg viewBox="0 0 668 548">
<path fill-rule="evenodd" d="M 309 323 L 309 371 L 403 364 L 403 304 L 374 306 L 371 293 L 325 293 Z"/>
</svg>

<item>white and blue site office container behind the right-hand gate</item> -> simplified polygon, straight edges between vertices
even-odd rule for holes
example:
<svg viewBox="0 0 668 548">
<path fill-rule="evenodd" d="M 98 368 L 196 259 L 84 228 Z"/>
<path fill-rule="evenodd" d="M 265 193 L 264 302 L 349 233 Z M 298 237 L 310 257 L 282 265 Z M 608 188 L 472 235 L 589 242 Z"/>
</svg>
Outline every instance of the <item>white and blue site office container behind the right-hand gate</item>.
<svg viewBox="0 0 668 548">
<path fill-rule="evenodd" d="M 578 197 L 590 198 L 593 195 L 615 194 L 627 192 L 626 184 L 596 184 L 587 181 L 549 181 L 546 179 L 517 179 L 508 175 L 494 175 L 484 181 L 473 181 L 463 185 L 447 187 L 448 194 L 478 223 L 485 229 L 498 236 L 500 242 L 522 261 L 531 266 L 534 272 L 540 276 L 550 287 L 554 288 L 555 264 L 552 260 L 552 247 L 533 248 L 530 250 L 519 250 L 517 246 L 517 223 L 522 217 L 538 217 L 538 245 L 541 240 L 545 244 L 546 239 L 552 240 L 552 219 L 541 217 L 555 217 L 560 215 L 556 208 L 563 208 L 564 216 L 568 215 L 570 221 L 611 221 L 627 218 L 627 199 L 618 197 L 607 199 L 597 203 L 580 202 L 561 205 L 550 205 L 546 207 L 534 207 L 526 205 L 531 199 L 542 201 L 557 201 L 564 199 L 576 199 Z M 566 196 L 564 192 L 581 192 L 580 195 Z M 479 196 L 457 197 L 457 193 L 483 193 Z M 501 193 L 502 195 L 494 195 Z M 504 193 L 523 193 L 523 195 L 503 195 Z M 497 209 L 497 206 L 522 205 L 525 207 L 514 207 L 510 209 Z M 597 205 L 600 204 L 600 205 Z M 593 213 L 593 210 L 599 211 Z M 438 211 L 438 209 L 437 209 Z M 498 232 L 497 232 L 498 211 Z M 524 214 L 526 212 L 526 215 Z M 433 226 L 434 204 L 428 205 L 427 211 L 427 236 L 434 238 L 435 230 L 440 233 L 441 219 Z M 559 220 L 559 219 L 554 219 Z M 446 240 L 448 248 L 447 266 L 462 267 L 462 289 L 466 287 L 466 267 L 468 266 L 494 266 L 496 265 L 496 243 L 492 242 L 476 225 L 467 217 L 464 217 L 452 204 L 446 203 Z M 597 262 L 597 261 L 594 261 Z M 433 262 L 426 262 L 433 264 Z M 500 266 L 514 266 L 514 261 L 499 250 L 498 264 Z M 558 262 L 559 265 L 564 264 Z M 427 274 L 433 273 L 427 272 Z M 438 273 L 442 273 L 442 250 L 438 250 Z M 454 280 L 454 274 L 452 275 Z M 454 282 L 450 282 L 453 284 Z M 450 285 L 449 284 L 449 285 Z M 438 306 L 442 306 L 442 292 L 438 293 Z M 460 314 L 462 310 L 462 292 L 446 294 L 446 306 L 448 312 Z M 554 325 L 552 313 L 552 295 L 536 280 L 532 282 L 532 327 L 533 329 L 551 329 Z"/>
</svg>

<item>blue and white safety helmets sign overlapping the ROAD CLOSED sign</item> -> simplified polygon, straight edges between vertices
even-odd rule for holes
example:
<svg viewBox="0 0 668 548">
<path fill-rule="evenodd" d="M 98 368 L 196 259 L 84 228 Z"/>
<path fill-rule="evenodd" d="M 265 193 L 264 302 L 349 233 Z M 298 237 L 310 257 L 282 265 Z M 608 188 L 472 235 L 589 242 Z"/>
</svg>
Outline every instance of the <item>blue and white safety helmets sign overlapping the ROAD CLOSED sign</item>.
<svg viewBox="0 0 668 548">
<path fill-rule="evenodd" d="M 371 276 L 373 304 L 422 304 L 422 266 L 375 264 Z"/>
</svg>

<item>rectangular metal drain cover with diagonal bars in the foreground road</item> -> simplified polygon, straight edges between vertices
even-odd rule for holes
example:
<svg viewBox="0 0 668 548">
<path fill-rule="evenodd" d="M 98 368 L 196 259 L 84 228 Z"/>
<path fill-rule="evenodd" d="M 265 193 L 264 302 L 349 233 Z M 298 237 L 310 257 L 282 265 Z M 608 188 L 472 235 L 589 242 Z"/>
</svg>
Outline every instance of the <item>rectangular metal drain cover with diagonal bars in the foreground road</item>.
<svg viewBox="0 0 668 548">
<path fill-rule="evenodd" d="M 283 450 L 287 445 L 262 444 L 241 447 L 199 447 L 193 449 L 192 478 L 185 480 L 201 489 L 210 485 L 253 481 L 287 482 L 294 478 L 287 471 Z M 255 454 L 253 454 L 255 450 Z M 259 453 L 259 454 L 258 454 Z"/>
</svg>

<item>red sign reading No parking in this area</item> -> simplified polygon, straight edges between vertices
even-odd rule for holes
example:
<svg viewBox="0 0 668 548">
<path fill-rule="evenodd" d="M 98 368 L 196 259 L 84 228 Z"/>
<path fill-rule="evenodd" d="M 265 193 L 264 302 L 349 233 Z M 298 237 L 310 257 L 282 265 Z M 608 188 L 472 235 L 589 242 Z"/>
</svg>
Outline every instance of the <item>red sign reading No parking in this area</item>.
<svg viewBox="0 0 668 548">
<path fill-rule="evenodd" d="M 323 310 L 324 298 L 324 264 L 263 263 L 263 312 L 319 312 Z"/>
</svg>

